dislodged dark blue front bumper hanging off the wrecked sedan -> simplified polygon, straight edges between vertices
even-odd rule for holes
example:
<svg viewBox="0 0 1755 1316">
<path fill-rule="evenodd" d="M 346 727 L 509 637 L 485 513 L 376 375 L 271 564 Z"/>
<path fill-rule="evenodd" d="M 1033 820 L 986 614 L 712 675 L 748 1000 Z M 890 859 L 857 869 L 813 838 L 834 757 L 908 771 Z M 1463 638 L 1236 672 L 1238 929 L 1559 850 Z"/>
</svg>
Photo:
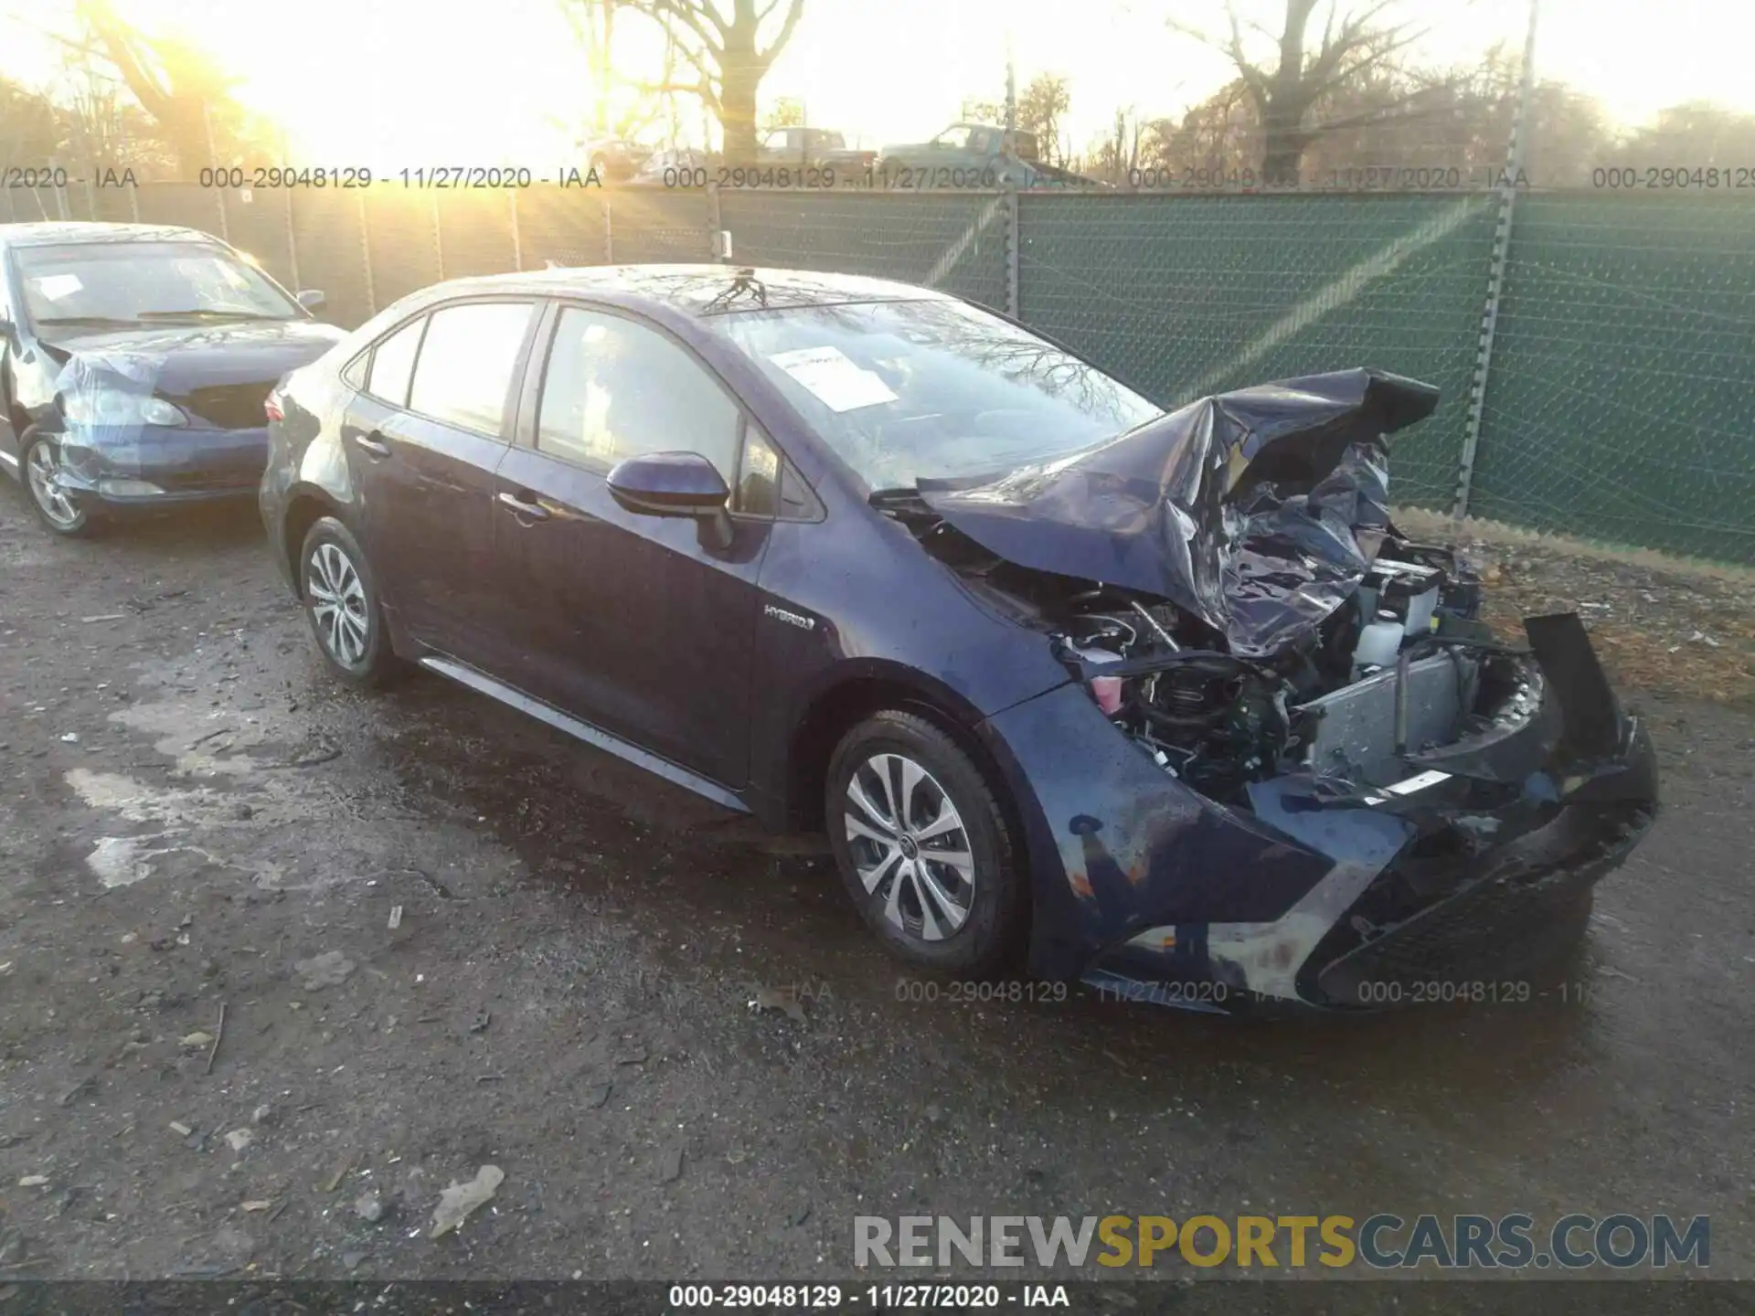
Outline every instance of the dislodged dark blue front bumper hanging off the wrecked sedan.
<svg viewBox="0 0 1755 1316">
<path fill-rule="evenodd" d="M 1062 691 L 992 719 L 1044 809 L 1032 969 L 1220 1012 L 1525 991 L 1578 941 L 1592 886 L 1658 809 L 1650 735 L 1618 711 L 1583 626 L 1527 625 L 1544 681 L 1536 716 L 1411 756 L 1395 790 L 1346 798 L 1290 774 L 1251 788 L 1250 811 L 1225 809 L 1130 744 L 1137 774 L 1111 755 L 1085 762 L 1095 728 L 1067 725 L 1085 721 L 1083 691 L 1055 704 L 1069 733 L 1053 758 L 1039 753 L 1041 711 L 1027 711 Z"/>
</svg>

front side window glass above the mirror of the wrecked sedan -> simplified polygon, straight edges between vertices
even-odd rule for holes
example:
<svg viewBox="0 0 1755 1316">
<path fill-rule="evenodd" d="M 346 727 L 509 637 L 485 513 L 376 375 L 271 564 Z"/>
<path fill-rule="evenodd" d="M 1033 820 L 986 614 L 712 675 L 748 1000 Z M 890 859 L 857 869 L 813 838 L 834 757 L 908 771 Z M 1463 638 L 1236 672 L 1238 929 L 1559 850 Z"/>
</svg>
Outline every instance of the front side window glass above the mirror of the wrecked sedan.
<svg viewBox="0 0 1755 1316">
<path fill-rule="evenodd" d="M 560 312 L 537 412 L 541 451 L 602 468 L 644 453 L 700 453 L 730 484 L 737 416 L 718 381 L 658 330 L 579 307 Z"/>
</svg>

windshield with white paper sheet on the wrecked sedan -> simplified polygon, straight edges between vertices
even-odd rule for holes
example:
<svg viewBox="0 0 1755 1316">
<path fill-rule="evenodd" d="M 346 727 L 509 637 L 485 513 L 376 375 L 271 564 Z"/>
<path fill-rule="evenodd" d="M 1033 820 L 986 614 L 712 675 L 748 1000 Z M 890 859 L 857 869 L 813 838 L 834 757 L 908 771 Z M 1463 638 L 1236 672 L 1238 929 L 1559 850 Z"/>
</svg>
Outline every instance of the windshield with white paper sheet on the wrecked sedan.
<svg viewBox="0 0 1755 1316">
<path fill-rule="evenodd" d="M 709 323 L 870 490 L 997 477 L 1164 414 L 1095 365 L 965 302 L 739 311 Z"/>
</svg>

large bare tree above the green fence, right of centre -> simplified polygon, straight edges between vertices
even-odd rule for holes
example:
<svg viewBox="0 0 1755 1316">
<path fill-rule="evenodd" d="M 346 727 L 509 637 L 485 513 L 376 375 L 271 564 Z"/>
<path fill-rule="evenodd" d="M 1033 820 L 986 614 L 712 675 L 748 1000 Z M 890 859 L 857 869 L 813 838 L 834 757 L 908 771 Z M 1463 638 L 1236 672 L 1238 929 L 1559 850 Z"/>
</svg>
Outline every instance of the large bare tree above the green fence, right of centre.
<svg viewBox="0 0 1755 1316">
<path fill-rule="evenodd" d="M 1408 23 L 1385 21 L 1395 0 L 1365 0 L 1344 14 L 1337 11 L 1337 0 L 1327 0 L 1322 37 L 1311 49 L 1307 30 L 1318 4 L 1322 0 L 1285 0 L 1285 21 L 1278 33 L 1258 23 L 1244 23 L 1237 16 L 1236 0 L 1225 0 L 1228 26 L 1221 35 L 1171 19 L 1176 32 L 1206 42 L 1236 65 L 1260 123 L 1262 175 L 1269 184 L 1297 182 L 1306 147 L 1325 133 L 1416 114 L 1420 98 L 1432 91 L 1429 86 L 1413 86 L 1393 104 L 1372 105 L 1357 116 L 1314 116 L 1320 102 L 1371 70 L 1390 65 L 1399 51 L 1423 35 Z M 1244 47 L 1246 26 L 1274 44 L 1272 67 L 1250 58 Z"/>
</svg>

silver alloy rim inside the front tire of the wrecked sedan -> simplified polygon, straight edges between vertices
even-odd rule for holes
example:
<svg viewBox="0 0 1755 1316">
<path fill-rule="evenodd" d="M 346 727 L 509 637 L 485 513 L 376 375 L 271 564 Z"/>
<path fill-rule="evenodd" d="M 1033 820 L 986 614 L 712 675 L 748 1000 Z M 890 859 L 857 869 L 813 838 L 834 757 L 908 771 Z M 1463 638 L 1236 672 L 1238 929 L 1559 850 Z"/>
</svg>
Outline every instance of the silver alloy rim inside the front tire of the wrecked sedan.
<svg viewBox="0 0 1755 1316">
<path fill-rule="evenodd" d="M 906 755 L 872 755 L 848 779 L 848 849 L 865 893 L 909 937 L 944 941 L 969 919 L 976 863 L 944 786 Z"/>
</svg>

